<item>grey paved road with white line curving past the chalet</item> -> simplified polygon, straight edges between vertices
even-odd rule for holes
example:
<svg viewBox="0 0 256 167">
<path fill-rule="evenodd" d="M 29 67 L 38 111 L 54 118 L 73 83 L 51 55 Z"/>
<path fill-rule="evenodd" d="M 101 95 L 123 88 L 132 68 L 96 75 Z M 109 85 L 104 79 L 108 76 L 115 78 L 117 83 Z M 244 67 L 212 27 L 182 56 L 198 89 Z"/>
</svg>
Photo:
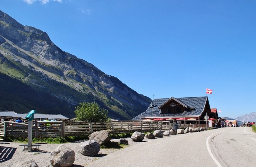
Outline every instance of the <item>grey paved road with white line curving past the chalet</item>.
<svg viewBox="0 0 256 167">
<path fill-rule="evenodd" d="M 219 128 L 172 135 L 133 145 L 86 167 L 254 166 L 256 134 L 251 127 Z"/>
</svg>

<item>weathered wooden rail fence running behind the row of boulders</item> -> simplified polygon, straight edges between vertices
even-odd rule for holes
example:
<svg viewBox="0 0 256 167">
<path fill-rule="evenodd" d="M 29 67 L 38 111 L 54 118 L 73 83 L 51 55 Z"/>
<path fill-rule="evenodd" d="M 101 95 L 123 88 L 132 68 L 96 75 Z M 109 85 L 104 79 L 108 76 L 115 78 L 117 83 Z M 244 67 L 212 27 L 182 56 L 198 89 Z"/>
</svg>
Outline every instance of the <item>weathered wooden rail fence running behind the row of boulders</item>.
<svg viewBox="0 0 256 167">
<path fill-rule="evenodd" d="M 188 124 L 180 124 L 185 129 Z M 42 121 L 33 122 L 32 136 L 40 137 L 67 137 L 89 136 L 95 131 L 108 130 L 110 134 L 139 132 L 153 132 L 155 130 L 170 130 L 173 124 L 167 121 L 118 121 L 118 122 L 79 122 L 79 121 Z M 0 137 L 27 137 L 28 123 L 5 121 L 0 123 Z"/>
</svg>

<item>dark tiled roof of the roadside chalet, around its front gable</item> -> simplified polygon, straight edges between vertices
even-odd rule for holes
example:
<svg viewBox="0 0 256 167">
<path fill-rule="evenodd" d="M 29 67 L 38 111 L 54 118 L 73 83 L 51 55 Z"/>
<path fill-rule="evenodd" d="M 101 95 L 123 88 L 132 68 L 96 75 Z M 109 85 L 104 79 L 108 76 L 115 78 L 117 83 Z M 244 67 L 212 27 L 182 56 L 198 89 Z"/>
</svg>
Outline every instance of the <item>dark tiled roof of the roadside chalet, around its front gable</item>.
<svg viewBox="0 0 256 167">
<path fill-rule="evenodd" d="M 160 106 L 167 103 L 171 98 L 165 98 L 165 99 L 154 99 L 153 100 L 153 106 L 152 104 L 149 105 L 146 112 L 141 113 L 140 115 L 133 118 L 133 120 L 140 119 L 141 117 L 159 117 L 159 116 L 196 116 L 201 115 L 204 106 L 207 102 L 208 97 L 184 97 L 184 98 L 175 98 L 181 102 L 183 105 L 187 105 L 190 108 L 195 108 L 195 110 L 192 111 L 184 111 L 183 113 L 176 113 L 176 114 L 161 114 L 161 109 L 159 109 Z M 158 111 L 159 110 L 159 111 Z"/>
</svg>

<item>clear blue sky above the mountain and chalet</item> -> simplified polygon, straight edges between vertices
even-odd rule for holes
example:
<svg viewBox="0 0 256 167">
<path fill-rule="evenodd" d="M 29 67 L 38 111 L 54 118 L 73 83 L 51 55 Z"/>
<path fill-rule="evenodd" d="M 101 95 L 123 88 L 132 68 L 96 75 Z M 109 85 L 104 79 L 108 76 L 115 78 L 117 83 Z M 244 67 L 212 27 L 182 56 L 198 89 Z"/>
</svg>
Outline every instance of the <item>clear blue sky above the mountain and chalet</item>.
<svg viewBox="0 0 256 167">
<path fill-rule="evenodd" d="M 256 112 L 255 9 L 252 0 L 0 1 L 19 23 L 138 93 L 208 96 L 231 118 Z"/>
</svg>

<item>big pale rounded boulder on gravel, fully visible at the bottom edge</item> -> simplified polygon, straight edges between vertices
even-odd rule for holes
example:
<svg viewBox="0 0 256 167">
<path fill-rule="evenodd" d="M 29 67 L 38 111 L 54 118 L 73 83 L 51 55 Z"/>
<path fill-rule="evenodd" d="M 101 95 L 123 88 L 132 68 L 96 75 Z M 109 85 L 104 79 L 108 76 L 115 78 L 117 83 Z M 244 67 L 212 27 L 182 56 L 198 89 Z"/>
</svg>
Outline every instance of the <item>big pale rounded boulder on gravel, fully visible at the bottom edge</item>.
<svg viewBox="0 0 256 167">
<path fill-rule="evenodd" d="M 69 167 L 75 161 L 75 152 L 64 144 L 59 145 L 50 154 L 50 164 L 53 167 Z"/>
</svg>

